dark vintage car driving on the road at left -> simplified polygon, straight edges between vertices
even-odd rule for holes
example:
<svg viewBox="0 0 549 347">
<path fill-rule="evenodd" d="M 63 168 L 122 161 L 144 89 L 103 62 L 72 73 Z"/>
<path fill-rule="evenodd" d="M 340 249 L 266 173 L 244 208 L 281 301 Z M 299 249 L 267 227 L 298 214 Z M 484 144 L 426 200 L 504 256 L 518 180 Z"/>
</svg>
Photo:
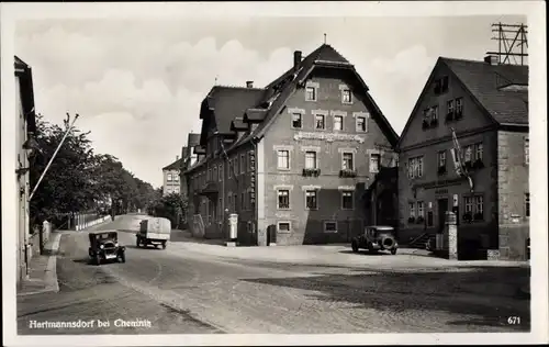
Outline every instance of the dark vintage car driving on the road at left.
<svg viewBox="0 0 549 347">
<path fill-rule="evenodd" d="M 116 232 L 90 233 L 89 238 L 88 253 L 93 264 L 101 265 L 102 261 L 108 260 L 126 261 L 126 247 L 119 244 Z"/>
</svg>

